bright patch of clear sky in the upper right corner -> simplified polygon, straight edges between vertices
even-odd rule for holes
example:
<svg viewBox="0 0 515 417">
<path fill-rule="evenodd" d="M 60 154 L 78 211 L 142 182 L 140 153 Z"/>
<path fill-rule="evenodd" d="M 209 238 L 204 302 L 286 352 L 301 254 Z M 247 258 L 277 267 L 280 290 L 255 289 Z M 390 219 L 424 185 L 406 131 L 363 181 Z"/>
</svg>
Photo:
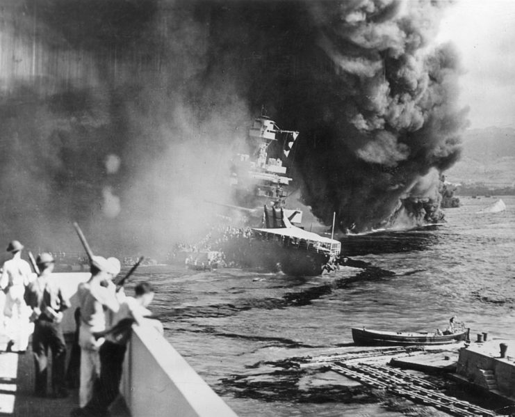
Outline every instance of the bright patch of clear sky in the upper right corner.
<svg viewBox="0 0 515 417">
<path fill-rule="evenodd" d="M 515 127 L 515 0 L 457 0 L 438 40 L 461 54 L 459 101 L 470 107 L 470 127 Z"/>
</svg>

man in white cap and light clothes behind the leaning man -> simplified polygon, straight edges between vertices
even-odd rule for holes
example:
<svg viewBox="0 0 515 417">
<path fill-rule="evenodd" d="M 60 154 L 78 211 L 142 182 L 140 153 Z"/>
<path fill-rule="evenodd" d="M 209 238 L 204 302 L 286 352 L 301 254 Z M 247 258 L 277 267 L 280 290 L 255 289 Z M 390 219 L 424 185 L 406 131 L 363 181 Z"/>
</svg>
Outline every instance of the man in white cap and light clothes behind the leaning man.
<svg viewBox="0 0 515 417">
<path fill-rule="evenodd" d="M 104 308 L 116 313 L 120 308 L 113 278 L 120 273 L 120 261 L 116 258 L 93 256 L 90 262 L 91 278 L 77 288 L 81 308 L 79 345 L 81 346 L 81 381 L 79 405 L 85 407 L 93 395 L 95 380 L 100 375 L 99 348 L 104 338 L 98 340 L 94 332 L 106 329 Z"/>
</svg>

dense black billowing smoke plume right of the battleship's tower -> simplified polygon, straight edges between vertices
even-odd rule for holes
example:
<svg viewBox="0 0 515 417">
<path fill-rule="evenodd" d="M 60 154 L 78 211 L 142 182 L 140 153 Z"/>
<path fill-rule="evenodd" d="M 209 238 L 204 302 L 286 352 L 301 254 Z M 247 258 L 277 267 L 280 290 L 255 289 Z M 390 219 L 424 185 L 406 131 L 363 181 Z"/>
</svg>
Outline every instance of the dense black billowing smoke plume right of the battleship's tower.
<svg viewBox="0 0 515 417">
<path fill-rule="evenodd" d="M 439 221 L 439 172 L 459 157 L 457 54 L 435 45 L 442 2 L 319 1 L 212 6 L 222 66 L 298 129 L 304 203 L 342 230 Z"/>
</svg>

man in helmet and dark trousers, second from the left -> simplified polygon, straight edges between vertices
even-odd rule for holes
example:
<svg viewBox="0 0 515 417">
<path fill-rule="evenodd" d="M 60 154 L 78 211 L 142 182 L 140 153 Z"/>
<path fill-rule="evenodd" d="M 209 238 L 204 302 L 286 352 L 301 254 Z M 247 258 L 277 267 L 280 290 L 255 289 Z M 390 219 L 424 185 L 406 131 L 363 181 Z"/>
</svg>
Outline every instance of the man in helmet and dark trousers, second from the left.
<svg viewBox="0 0 515 417">
<path fill-rule="evenodd" d="M 54 258 L 41 253 L 36 260 L 40 276 L 28 285 L 26 301 L 33 309 L 34 334 L 32 351 L 35 363 L 35 395 L 47 396 L 47 352 L 52 351 L 52 391 L 54 398 L 68 396 L 65 388 L 66 344 L 61 321 L 70 301 L 63 295 L 60 285 L 51 277 Z"/>
</svg>

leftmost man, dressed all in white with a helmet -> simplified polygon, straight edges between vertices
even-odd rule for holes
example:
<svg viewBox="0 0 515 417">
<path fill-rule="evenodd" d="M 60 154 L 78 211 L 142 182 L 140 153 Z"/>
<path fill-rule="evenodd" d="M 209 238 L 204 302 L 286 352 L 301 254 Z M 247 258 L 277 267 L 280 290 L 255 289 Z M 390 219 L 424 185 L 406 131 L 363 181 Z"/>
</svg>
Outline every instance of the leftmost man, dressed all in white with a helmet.
<svg viewBox="0 0 515 417">
<path fill-rule="evenodd" d="M 3 264 L 3 272 L 0 277 L 0 288 L 6 293 L 6 305 L 4 313 L 8 317 L 6 333 L 10 340 L 7 351 L 13 350 L 24 354 L 28 345 L 28 308 L 24 300 L 25 287 L 31 276 L 31 267 L 22 259 L 24 246 L 17 240 L 10 242 L 7 251 L 13 254 L 13 258 Z M 16 346 L 13 349 L 13 346 Z"/>
</svg>

